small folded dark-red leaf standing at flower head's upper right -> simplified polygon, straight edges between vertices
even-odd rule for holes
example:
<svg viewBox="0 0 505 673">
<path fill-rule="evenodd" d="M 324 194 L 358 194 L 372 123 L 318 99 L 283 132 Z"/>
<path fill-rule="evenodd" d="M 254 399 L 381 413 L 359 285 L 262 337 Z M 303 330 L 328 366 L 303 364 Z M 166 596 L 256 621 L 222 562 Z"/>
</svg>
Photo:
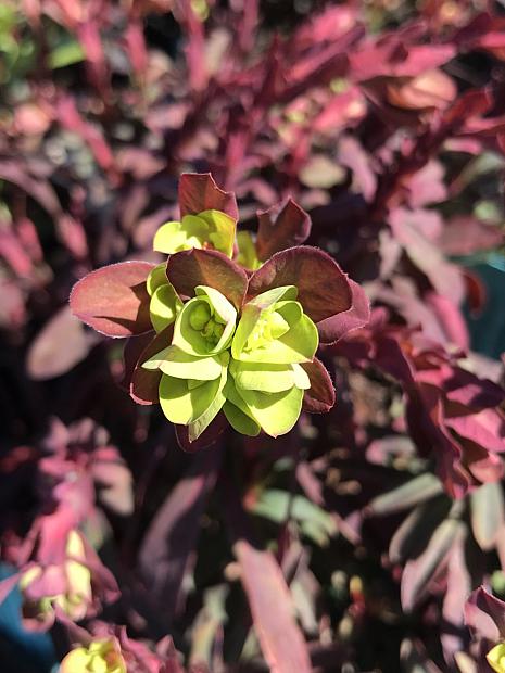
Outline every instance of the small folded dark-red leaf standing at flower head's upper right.
<svg viewBox="0 0 505 673">
<path fill-rule="evenodd" d="M 257 255 L 268 259 L 286 247 L 301 245 L 311 233 L 311 218 L 292 199 L 257 214 Z"/>
</svg>

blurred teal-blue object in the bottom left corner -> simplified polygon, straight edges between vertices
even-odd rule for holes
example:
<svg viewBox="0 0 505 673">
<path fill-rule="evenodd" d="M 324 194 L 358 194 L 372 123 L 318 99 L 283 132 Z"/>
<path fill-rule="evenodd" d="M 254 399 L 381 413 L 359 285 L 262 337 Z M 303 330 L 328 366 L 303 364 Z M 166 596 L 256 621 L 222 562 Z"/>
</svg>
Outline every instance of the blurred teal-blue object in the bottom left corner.
<svg viewBox="0 0 505 673">
<path fill-rule="evenodd" d="M 0 580 L 13 574 L 0 566 Z M 28 633 L 20 621 L 21 595 L 11 592 L 0 606 L 0 672 L 56 673 L 59 665 L 51 637 L 46 633 Z"/>
</svg>

